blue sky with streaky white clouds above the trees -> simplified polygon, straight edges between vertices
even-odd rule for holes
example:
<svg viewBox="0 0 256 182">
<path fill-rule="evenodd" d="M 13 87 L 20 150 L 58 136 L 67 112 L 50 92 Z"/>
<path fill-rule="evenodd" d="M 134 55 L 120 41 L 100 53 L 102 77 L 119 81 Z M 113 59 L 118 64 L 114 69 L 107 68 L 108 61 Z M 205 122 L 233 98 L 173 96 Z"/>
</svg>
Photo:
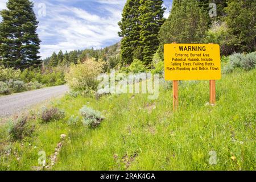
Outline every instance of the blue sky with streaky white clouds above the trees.
<svg viewBox="0 0 256 182">
<path fill-rule="evenodd" d="M 40 56 L 52 52 L 102 48 L 117 43 L 118 22 L 126 0 L 32 0 L 39 21 Z M 7 0 L 0 0 L 0 10 Z M 172 0 L 164 0 L 165 17 Z M 45 9 L 44 9 L 45 7 Z M 44 11 L 46 10 L 46 11 Z M 0 20 L 1 20 L 0 16 Z"/>
</svg>

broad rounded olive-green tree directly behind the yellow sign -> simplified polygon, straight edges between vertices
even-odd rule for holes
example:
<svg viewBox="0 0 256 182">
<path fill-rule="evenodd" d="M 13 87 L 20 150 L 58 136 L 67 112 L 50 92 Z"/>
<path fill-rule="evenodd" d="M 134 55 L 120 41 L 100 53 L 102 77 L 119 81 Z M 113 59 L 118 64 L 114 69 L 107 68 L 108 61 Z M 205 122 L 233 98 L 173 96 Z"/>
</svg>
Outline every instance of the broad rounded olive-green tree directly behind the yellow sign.
<svg viewBox="0 0 256 182">
<path fill-rule="evenodd" d="M 174 0 L 170 16 L 159 31 L 159 52 L 163 53 L 167 43 L 202 43 L 210 26 L 205 7 L 197 0 Z"/>
</svg>

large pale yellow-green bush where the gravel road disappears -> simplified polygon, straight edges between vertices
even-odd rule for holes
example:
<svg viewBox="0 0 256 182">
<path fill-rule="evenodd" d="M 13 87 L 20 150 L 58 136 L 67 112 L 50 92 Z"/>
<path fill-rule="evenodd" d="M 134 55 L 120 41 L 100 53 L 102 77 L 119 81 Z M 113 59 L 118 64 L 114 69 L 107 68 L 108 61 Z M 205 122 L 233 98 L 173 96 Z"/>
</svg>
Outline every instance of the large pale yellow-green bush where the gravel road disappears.
<svg viewBox="0 0 256 182">
<path fill-rule="evenodd" d="M 75 91 L 96 91 L 98 86 L 97 76 L 103 71 L 104 62 L 88 59 L 82 64 L 71 65 L 65 75 L 68 85 Z"/>
</svg>

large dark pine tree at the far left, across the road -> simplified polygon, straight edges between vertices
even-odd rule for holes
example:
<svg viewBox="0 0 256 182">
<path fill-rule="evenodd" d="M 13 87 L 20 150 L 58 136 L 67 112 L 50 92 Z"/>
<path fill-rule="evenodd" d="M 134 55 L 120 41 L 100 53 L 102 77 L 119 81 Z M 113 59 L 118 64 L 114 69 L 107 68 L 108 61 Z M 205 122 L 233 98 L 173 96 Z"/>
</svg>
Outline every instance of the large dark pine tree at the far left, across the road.
<svg viewBox="0 0 256 182">
<path fill-rule="evenodd" d="M 40 40 L 34 4 L 28 0 L 9 0 L 7 10 L 0 12 L 0 57 L 5 67 L 38 67 Z"/>
</svg>

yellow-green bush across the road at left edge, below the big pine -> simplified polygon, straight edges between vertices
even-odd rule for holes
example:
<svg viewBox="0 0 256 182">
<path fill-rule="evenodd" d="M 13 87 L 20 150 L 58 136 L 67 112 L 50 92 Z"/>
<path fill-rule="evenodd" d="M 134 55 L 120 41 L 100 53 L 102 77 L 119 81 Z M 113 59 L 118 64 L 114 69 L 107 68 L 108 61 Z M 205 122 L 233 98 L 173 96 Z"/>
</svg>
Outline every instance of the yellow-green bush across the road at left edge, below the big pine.
<svg viewBox="0 0 256 182">
<path fill-rule="evenodd" d="M 4 68 L 0 65 L 0 81 L 18 80 L 20 78 L 20 69 Z"/>
</svg>

